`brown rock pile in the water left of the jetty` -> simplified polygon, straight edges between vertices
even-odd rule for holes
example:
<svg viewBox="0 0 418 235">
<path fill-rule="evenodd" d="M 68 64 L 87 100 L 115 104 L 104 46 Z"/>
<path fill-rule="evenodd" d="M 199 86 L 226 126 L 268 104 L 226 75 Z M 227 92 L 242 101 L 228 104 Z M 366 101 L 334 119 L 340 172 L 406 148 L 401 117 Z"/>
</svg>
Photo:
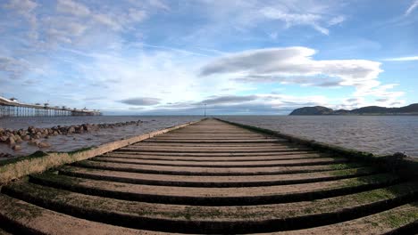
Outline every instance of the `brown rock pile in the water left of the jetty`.
<svg viewBox="0 0 418 235">
<path fill-rule="evenodd" d="M 143 121 L 130 121 L 112 124 L 82 124 L 73 126 L 54 126 L 50 128 L 37 128 L 29 126 L 28 129 L 3 129 L 0 128 L 0 142 L 8 144 L 13 150 L 21 150 L 21 142 L 28 142 L 30 145 L 38 146 L 40 149 L 51 147 L 48 142 L 42 142 L 42 139 L 48 139 L 51 136 L 59 134 L 83 134 L 92 131 L 97 131 L 104 128 L 113 128 L 119 126 L 137 125 L 139 126 Z M 9 157 L 9 154 L 0 153 L 1 157 Z"/>
</svg>

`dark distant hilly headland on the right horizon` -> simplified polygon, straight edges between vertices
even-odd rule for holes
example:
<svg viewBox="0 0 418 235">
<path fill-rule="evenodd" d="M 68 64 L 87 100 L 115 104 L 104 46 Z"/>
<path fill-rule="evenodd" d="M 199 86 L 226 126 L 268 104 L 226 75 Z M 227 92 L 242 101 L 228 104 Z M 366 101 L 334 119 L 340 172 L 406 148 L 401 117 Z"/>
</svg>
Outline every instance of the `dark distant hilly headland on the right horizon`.
<svg viewBox="0 0 418 235">
<path fill-rule="evenodd" d="M 352 110 L 314 106 L 295 109 L 289 115 L 418 115 L 418 103 L 400 108 L 367 106 Z"/>
</svg>

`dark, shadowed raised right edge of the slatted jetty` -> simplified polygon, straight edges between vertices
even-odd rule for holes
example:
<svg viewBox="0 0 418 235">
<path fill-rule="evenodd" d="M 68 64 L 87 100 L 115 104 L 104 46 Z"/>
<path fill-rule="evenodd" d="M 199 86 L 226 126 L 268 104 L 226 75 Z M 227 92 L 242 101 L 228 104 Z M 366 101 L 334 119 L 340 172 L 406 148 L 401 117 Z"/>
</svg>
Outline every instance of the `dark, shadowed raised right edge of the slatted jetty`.
<svg viewBox="0 0 418 235">
<path fill-rule="evenodd" d="M 408 157 L 403 153 L 395 153 L 391 155 L 375 155 L 371 152 L 360 151 L 355 149 L 348 149 L 339 145 L 330 144 L 326 142 L 317 142 L 307 138 L 302 138 L 293 134 L 283 134 L 278 131 L 265 129 L 259 126 L 249 126 L 241 123 L 231 122 L 222 118 L 216 118 L 219 121 L 228 123 L 230 125 L 239 126 L 252 130 L 258 133 L 270 134 L 288 140 L 288 142 L 296 143 L 298 145 L 336 154 L 346 158 L 354 158 L 355 160 L 364 161 L 380 168 L 399 174 L 408 179 L 414 179 L 418 176 L 418 158 Z"/>
</svg>

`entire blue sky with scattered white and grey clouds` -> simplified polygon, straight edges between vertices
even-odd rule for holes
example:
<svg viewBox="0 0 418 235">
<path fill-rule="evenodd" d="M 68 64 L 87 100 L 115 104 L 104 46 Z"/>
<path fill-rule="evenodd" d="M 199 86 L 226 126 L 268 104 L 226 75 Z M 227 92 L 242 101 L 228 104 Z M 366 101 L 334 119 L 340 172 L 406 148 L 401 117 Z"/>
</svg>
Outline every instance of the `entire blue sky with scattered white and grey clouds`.
<svg viewBox="0 0 418 235">
<path fill-rule="evenodd" d="M 0 96 L 104 114 L 418 102 L 418 0 L 0 0 Z"/>
</svg>

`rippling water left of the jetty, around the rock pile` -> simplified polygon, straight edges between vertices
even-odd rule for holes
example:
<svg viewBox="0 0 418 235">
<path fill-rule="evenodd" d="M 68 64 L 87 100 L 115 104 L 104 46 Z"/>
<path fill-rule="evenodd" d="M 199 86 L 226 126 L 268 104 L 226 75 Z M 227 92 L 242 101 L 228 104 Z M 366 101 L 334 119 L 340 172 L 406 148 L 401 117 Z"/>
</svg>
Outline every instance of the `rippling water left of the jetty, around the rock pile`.
<svg viewBox="0 0 418 235">
<path fill-rule="evenodd" d="M 52 147 L 46 151 L 71 151 L 97 146 L 105 142 L 113 142 L 135 136 L 146 134 L 155 130 L 163 129 L 170 126 L 177 126 L 190 121 L 196 121 L 202 117 L 193 116 L 171 116 L 171 117 L 138 117 L 138 116 L 100 116 L 100 117 L 44 117 L 44 118 L 0 118 L 0 127 L 9 129 L 26 129 L 28 126 L 35 127 L 52 127 L 52 126 L 71 126 L 80 124 L 99 124 L 99 123 L 118 123 L 127 121 L 144 121 L 139 126 L 121 126 L 114 128 L 100 129 L 86 134 L 69 134 L 51 136 L 46 141 L 51 143 Z M 0 143 L 0 152 L 10 153 L 15 156 L 31 154 L 38 147 L 28 145 L 27 142 L 21 143 L 22 150 L 15 152 L 4 143 Z"/>
</svg>

